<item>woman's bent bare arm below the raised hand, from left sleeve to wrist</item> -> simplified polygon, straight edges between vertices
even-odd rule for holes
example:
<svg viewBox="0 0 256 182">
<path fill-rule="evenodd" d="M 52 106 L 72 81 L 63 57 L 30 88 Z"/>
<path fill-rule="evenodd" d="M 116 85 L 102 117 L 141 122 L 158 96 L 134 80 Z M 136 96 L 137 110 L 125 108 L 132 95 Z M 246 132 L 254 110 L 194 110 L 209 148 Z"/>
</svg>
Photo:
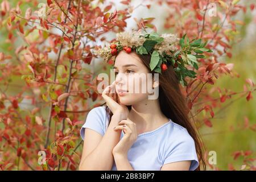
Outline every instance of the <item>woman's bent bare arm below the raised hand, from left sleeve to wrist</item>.
<svg viewBox="0 0 256 182">
<path fill-rule="evenodd" d="M 103 137 L 96 131 L 85 129 L 84 148 L 79 170 L 109 171 L 112 169 L 114 162 L 112 151 L 119 142 L 121 134 L 121 131 L 116 132 L 113 128 L 121 120 L 121 114 L 114 114 Z"/>
</svg>

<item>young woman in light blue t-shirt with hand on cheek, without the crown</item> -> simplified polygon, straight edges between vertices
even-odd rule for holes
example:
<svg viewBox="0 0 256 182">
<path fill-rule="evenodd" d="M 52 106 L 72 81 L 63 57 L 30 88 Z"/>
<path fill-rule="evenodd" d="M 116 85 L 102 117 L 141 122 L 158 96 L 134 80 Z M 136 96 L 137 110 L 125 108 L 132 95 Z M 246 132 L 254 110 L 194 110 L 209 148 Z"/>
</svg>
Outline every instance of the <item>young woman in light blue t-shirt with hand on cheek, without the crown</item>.
<svg viewBox="0 0 256 182">
<path fill-rule="evenodd" d="M 174 68 L 152 80 L 152 88 L 159 89 L 154 100 L 148 99 L 151 93 L 130 89 L 139 74 L 154 73 L 150 60 L 150 54 L 134 50 L 117 53 L 115 81 L 102 92 L 106 106 L 90 110 L 80 130 L 80 170 L 200 170 L 200 161 L 205 169 Z M 147 82 L 140 82 L 139 90 Z"/>
</svg>

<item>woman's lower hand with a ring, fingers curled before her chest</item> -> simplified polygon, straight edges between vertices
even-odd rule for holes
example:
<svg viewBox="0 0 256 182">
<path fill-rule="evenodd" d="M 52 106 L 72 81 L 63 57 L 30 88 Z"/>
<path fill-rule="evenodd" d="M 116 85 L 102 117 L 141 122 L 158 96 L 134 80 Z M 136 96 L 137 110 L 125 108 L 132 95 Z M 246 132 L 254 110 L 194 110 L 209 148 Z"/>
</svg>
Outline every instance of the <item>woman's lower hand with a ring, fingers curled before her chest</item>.
<svg viewBox="0 0 256 182">
<path fill-rule="evenodd" d="M 118 123 L 118 126 L 114 127 L 114 131 L 123 130 L 125 135 L 113 148 L 113 155 L 127 156 L 128 150 L 133 143 L 137 140 L 137 128 L 136 124 L 130 119 L 123 119 Z"/>
</svg>

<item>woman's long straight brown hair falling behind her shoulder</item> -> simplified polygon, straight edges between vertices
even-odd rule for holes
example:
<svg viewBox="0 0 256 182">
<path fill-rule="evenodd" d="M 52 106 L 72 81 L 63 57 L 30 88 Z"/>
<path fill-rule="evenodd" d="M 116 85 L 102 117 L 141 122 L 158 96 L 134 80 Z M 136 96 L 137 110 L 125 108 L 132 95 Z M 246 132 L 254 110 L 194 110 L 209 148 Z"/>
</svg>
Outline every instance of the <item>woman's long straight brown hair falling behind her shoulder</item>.
<svg viewBox="0 0 256 182">
<path fill-rule="evenodd" d="M 135 52 L 135 51 L 133 51 Z M 142 60 L 144 65 L 150 70 L 150 59 L 151 55 L 139 55 L 139 58 Z M 153 74 L 154 75 L 154 74 Z M 199 163 L 203 164 L 203 170 L 205 170 L 205 160 L 203 155 L 203 142 L 200 139 L 200 135 L 197 131 L 197 128 L 192 125 L 192 122 L 188 118 L 189 109 L 187 107 L 185 97 L 181 93 L 179 87 L 179 80 L 177 75 L 174 71 L 174 67 L 172 65 L 168 65 L 168 69 L 162 74 L 159 74 L 159 104 L 162 113 L 167 117 L 170 118 L 172 121 L 177 123 L 180 126 L 183 126 L 187 129 L 189 135 L 195 141 L 196 153 L 199 158 Z M 131 110 L 131 106 L 127 106 L 129 110 Z M 112 111 L 106 106 L 106 111 L 110 114 L 110 120 L 112 118 Z M 196 169 L 200 171 L 200 165 Z"/>
</svg>

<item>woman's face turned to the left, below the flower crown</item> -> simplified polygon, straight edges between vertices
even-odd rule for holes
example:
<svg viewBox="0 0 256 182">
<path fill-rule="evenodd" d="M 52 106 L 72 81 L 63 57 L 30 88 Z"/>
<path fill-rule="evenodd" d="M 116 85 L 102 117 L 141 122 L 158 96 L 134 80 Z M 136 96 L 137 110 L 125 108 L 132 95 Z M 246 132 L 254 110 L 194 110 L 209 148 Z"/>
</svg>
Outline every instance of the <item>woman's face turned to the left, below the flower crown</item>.
<svg viewBox="0 0 256 182">
<path fill-rule="evenodd" d="M 147 83 L 152 88 L 152 82 L 148 82 L 147 77 L 150 72 L 135 52 L 119 52 L 115 58 L 114 72 L 115 91 L 120 104 L 134 105 L 148 98 Z"/>
</svg>

